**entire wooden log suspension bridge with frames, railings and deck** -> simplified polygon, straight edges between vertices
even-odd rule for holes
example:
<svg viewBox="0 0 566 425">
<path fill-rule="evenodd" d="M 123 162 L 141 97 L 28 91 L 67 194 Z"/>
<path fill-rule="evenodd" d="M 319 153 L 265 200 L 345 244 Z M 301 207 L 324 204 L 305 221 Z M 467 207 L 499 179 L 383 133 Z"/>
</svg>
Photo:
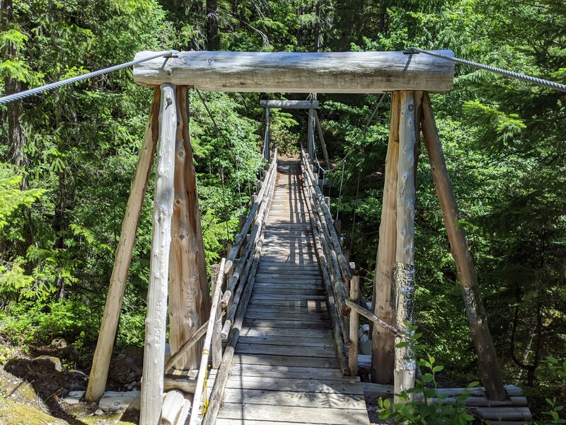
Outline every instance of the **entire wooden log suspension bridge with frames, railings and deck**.
<svg viewBox="0 0 566 425">
<path fill-rule="evenodd" d="M 419 49 L 167 51 L 140 52 L 134 61 L 118 66 L 134 66 L 134 81 L 154 88 L 154 100 L 84 398 L 97 402 L 105 392 L 137 221 L 156 157 L 140 424 L 369 424 L 364 401 L 368 395 L 403 401 L 399 395 L 415 385 L 417 373 L 411 346 L 415 172 L 422 135 L 483 383 L 470 390 L 466 407 L 483 421 L 530 422 L 521 389 L 504 385 L 497 364 L 473 260 L 457 225 L 456 199 L 429 100 L 429 92 L 451 89 L 454 62 L 458 59 L 451 51 Z M 522 74 L 504 75 L 566 89 Z M 48 89 L 6 96 L 0 103 Z M 373 304 L 359 292 L 355 264 L 348 259 L 340 225 L 323 195 L 325 173 L 347 157 L 334 166 L 330 163 L 316 100 L 262 101 L 262 161 L 250 169 L 258 173 L 257 190 L 226 257 L 207 278 L 190 145 L 190 89 L 391 94 Z M 308 138 L 299 159 L 278 157 L 277 140 L 270 140 L 270 108 L 308 110 Z M 316 130 L 327 169 L 316 156 Z M 373 323 L 371 356 L 359 353 L 360 315 Z M 440 389 L 437 394 L 450 402 L 461 392 Z M 418 394 L 408 399 L 438 402 Z"/>
</svg>

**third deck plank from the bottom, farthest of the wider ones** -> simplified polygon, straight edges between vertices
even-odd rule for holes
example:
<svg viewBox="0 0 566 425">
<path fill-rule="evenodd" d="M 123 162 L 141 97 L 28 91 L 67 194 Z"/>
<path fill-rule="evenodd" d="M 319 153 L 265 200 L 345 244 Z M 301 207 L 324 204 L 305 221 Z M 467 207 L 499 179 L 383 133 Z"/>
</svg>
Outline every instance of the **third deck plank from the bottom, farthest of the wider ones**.
<svg viewBox="0 0 566 425">
<path fill-rule="evenodd" d="M 340 380 L 309 380 L 291 378 L 270 378 L 262 376 L 242 376 L 230 379 L 227 388 L 242 390 L 277 390 L 291 392 L 320 392 L 327 394 L 364 395 L 362 385 L 356 381 Z"/>
</svg>

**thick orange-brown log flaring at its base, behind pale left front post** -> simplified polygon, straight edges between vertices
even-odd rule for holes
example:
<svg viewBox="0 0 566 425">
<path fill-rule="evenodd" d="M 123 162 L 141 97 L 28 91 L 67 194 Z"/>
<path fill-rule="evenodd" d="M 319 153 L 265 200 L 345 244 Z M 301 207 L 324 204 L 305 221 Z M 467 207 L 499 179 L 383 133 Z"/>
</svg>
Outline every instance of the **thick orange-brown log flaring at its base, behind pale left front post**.
<svg viewBox="0 0 566 425">
<path fill-rule="evenodd" d="M 169 261 L 169 344 L 175 353 L 207 322 L 210 295 L 207 280 L 195 164 L 188 128 L 187 87 L 177 88 L 175 203 Z M 196 369 L 201 344 L 195 344 L 173 367 Z"/>
</svg>

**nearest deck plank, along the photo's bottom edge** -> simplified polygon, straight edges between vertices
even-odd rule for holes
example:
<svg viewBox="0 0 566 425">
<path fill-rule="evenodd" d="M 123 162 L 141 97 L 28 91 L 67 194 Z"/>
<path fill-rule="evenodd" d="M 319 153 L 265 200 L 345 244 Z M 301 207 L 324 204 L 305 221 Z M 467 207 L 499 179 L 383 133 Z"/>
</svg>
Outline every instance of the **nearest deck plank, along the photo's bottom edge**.
<svg viewBox="0 0 566 425">
<path fill-rule="evenodd" d="M 332 409 L 328 407 L 313 409 L 311 407 L 267 406 L 265 404 L 225 403 L 221 417 L 231 419 L 253 417 L 262 420 L 284 418 L 285 421 L 299 422 L 300 424 L 305 422 L 342 425 L 369 424 L 365 410 Z"/>
</svg>

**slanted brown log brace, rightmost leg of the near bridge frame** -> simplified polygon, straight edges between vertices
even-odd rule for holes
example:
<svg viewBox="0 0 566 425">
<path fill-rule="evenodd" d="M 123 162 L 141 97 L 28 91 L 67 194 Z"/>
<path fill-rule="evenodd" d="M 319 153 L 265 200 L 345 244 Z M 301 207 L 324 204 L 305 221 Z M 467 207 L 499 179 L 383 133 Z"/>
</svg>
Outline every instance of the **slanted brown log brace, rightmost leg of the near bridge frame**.
<svg viewBox="0 0 566 425">
<path fill-rule="evenodd" d="M 472 255 L 468 249 L 466 234 L 458 226 L 458 220 L 460 220 L 458 206 L 446 169 L 446 159 L 444 159 L 442 152 L 428 94 L 424 95 L 422 102 L 422 132 L 429 153 L 434 186 L 437 189 L 442 215 L 444 216 L 444 225 L 448 232 L 450 251 L 454 257 L 458 280 L 460 280 L 462 287 L 464 305 L 466 305 L 466 314 L 470 324 L 470 334 L 475 350 L 478 352 L 485 392 L 490 399 L 503 400 L 507 398 L 507 394 L 503 386 L 501 370 L 497 364 L 497 354 L 487 324 L 487 314 L 483 307 L 478 276 L 475 273 Z"/>
</svg>

